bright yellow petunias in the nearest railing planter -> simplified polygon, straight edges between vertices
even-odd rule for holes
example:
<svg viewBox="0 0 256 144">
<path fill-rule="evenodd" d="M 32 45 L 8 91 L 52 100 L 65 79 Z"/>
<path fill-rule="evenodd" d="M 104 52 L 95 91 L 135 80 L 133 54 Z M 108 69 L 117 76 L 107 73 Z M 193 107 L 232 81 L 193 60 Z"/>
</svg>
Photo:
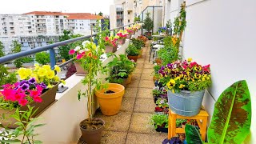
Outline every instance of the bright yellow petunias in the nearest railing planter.
<svg viewBox="0 0 256 144">
<path fill-rule="evenodd" d="M 54 70 L 60 72 L 61 69 L 58 66 L 54 66 L 54 70 L 50 69 L 50 65 L 38 66 L 38 64 L 34 65 L 34 70 L 20 68 L 18 70 L 18 75 L 21 80 L 28 80 L 30 78 L 34 78 L 38 83 L 45 83 L 46 87 L 52 88 L 54 84 L 58 82 L 65 83 L 64 81 L 58 78 L 58 75 L 55 74 Z"/>
</svg>

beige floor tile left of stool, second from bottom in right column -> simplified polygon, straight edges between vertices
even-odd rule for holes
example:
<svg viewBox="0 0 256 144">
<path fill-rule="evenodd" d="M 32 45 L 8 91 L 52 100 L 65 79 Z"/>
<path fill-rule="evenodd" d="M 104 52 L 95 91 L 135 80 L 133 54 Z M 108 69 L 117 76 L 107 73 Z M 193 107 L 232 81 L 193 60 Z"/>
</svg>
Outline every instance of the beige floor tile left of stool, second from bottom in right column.
<svg viewBox="0 0 256 144">
<path fill-rule="evenodd" d="M 129 132 L 156 134 L 157 132 L 154 130 L 154 126 L 150 125 L 150 115 L 146 113 L 134 113 L 131 118 Z"/>
</svg>

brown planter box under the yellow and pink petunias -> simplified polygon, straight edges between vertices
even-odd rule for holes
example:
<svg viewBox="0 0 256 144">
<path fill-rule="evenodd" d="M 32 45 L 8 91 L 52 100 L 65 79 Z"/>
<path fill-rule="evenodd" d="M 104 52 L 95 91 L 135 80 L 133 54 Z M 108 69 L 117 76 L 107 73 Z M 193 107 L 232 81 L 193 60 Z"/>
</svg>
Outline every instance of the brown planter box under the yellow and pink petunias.
<svg viewBox="0 0 256 144">
<path fill-rule="evenodd" d="M 46 110 L 46 108 L 48 106 L 50 106 L 50 104 L 55 102 L 55 96 L 56 96 L 57 90 L 58 90 L 58 84 L 55 85 L 50 90 L 47 90 L 45 93 L 43 93 L 40 96 L 42 98 L 41 103 L 38 103 L 38 102 L 31 102 L 30 103 L 31 107 L 34 106 L 34 110 L 38 109 L 37 112 L 35 112 L 34 115 L 32 116 L 33 118 L 38 117 L 38 115 L 40 115 L 42 113 L 42 111 Z M 11 114 L 14 114 L 15 110 L 2 110 L 2 109 L 0 109 L 0 115 L 1 116 L 2 116 L 2 114 L 6 115 L 6 119 L 2 121 L 3 126 L 8 126 L 9 125 L 8 128 L 10 128 L 10 129 L 15 129 L 16 127 L 18 127 L 18 125 L 14 125 L 14 123 L 17 122 L 17 120 L 10 117 Z M 28 108 L 27 108 L 27 106 L 22 106 L 21 110 L 26 111 L 26 110 L 28 110 Z"/>
</svg>

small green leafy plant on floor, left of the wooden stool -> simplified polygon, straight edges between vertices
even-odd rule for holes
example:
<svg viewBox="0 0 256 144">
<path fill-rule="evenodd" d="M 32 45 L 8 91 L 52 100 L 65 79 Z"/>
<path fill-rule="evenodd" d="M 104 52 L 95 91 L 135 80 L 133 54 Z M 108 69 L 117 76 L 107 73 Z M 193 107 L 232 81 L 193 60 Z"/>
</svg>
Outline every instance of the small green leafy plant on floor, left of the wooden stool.
<svg viewBox="0 0 256 144">
<path fill-rule="evenodd" d="M 168 128 L 169 117 L 167 114 L 153 114 L 151 116 L 151 125 L 154 126 L 155 129 L 158 127 Z"/>
</svg>

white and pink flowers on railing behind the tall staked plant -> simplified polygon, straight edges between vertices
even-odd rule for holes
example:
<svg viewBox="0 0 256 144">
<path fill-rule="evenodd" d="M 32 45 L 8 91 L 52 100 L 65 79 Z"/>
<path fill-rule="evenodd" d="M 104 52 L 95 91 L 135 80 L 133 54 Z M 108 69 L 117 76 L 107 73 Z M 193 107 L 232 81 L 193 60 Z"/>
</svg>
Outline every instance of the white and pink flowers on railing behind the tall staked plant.
<svg viewBox="0 0 256 144">
<path fill-rule="evenodd" d="M 85 41 L 82 42 L 82 46 L 76 46 L 74 49 L 69 51 L 70 55 L 73 55 L 76 60 L 80 60 L 86 57 L 93 57 L 94 56 L 91 50 L 99 50 L 99 47 L 94 44 L 94 42 Z"/>
</svg>

